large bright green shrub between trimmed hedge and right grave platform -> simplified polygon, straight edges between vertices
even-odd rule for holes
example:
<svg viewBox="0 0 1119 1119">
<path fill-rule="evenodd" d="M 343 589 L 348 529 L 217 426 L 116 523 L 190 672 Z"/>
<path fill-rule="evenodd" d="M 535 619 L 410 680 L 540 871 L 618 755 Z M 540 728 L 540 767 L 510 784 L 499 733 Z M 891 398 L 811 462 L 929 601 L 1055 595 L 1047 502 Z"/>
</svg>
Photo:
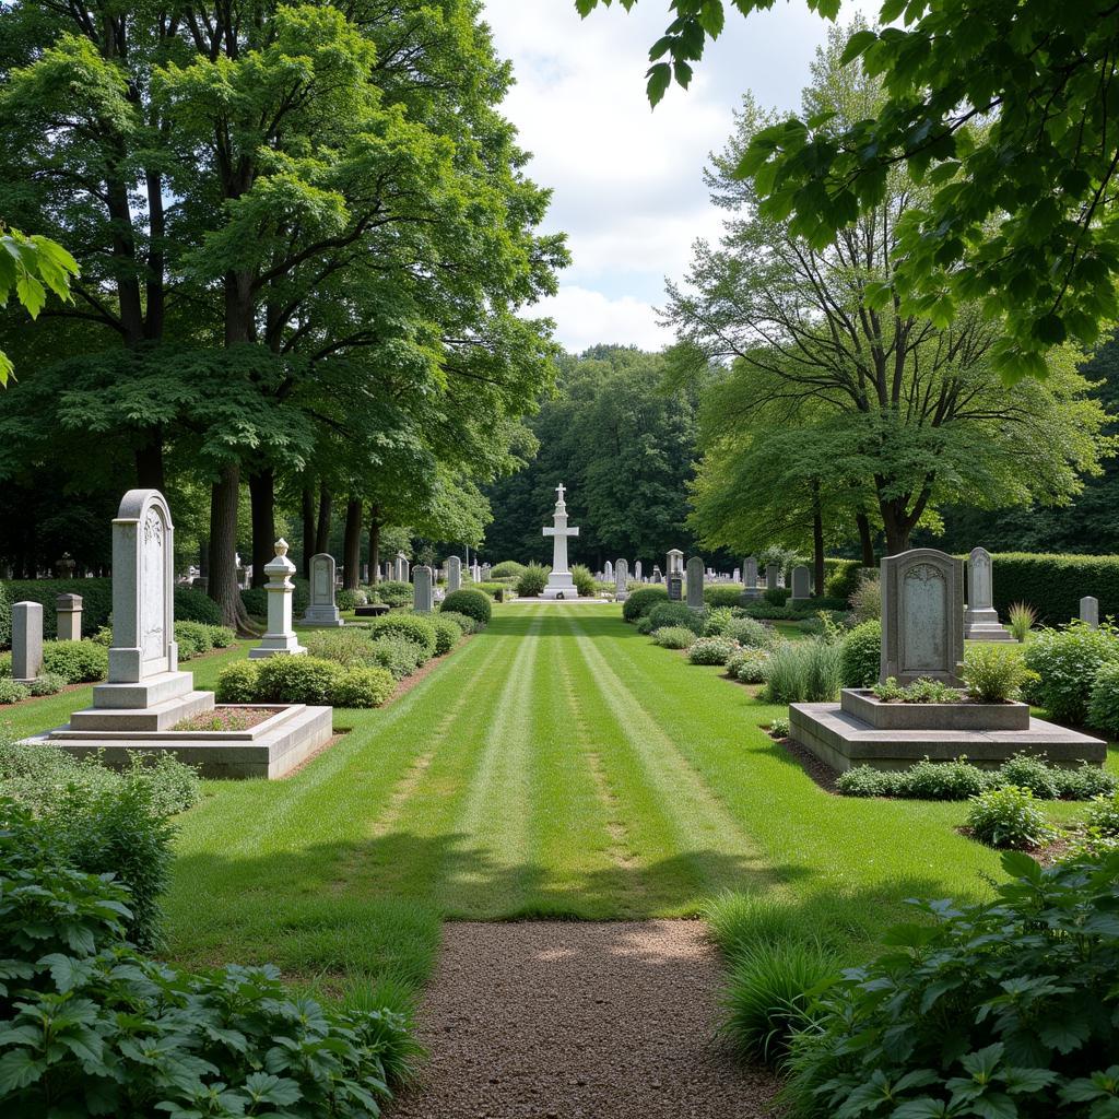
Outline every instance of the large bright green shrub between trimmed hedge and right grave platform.
<svg viewBox="0 0 1119 1119">
<path fill-rule="evenodd" d="M 1079 725 L 1088 720 L 1097 673 L 1103 665 L 1119 661 L 1119 637 L 1106 623 L 1092 629 L 1071 622 L 1035 634 L 1025 646 L 1023 660 L 1037 674 L 1029 685 L 1029 698 L 1055 720 Z"/>
</svg>

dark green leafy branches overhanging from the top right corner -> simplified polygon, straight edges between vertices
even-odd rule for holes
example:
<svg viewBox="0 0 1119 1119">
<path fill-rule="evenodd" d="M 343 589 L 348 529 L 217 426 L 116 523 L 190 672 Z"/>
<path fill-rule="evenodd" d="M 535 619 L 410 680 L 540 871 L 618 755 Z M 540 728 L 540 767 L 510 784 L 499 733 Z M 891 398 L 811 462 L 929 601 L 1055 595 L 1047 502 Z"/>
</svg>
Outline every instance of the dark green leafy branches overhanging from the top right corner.
<svg viewBox="0 0 1119 1119">
<path fill-rule="evenodd" d="M 612 0 L 575 0 L 585 16 Z M 627 10 L 636 0 L 619 0 Z M 686 86 L 733 7 L 773 0 L 669 0 L 650 51 L 650 100 Z M 840 0 L 808 0 L 834 19 Z M 904 16 L 904 27 L 886 26 Z M 739 153 L 762 211 L 791 218 L 814 248 L 884 205 L 891 169 L 924 184 L 897 235 L 896 276 L 876 302 L 946 326 L 976 304 L 1003 325 L 991 360 L 1044 377 L 1045 351 L 1085 346 L 1119 314 L 1119 51 L 1113 0 L 883 0 L 881 30 L 850 35 L 845 62 L 881 76 L 873 115 L 773 122 Z"/>
</svg>

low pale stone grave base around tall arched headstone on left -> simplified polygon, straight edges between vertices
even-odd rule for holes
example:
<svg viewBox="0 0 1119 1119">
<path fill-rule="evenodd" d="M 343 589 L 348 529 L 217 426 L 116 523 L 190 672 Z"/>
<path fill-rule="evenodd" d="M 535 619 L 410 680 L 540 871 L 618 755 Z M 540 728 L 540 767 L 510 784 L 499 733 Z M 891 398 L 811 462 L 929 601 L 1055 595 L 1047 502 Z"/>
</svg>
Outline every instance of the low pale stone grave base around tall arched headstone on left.
<svg viewBox="0 0 1119 1119">
<path fill-rule="evenodd" d="M 213 693 L 209 696 L 213 707 Z M 273 709 L 279 704 L 225 704 L 245 711 Z M 129 764 L 129 754 L 173 753 L 180 762 L 197 765 L 205 778 L 279 778 L 307 761 L 330 740 L 333 709 L 305 704 L 284 705 L 281 711 L 245 731 L 135 731 L 81 730 L 73 722 L 45 734 L 23 739 L 22 744 L 55 746 L 83 756 L 103 751 L 107 765 Z"/>
</svg>

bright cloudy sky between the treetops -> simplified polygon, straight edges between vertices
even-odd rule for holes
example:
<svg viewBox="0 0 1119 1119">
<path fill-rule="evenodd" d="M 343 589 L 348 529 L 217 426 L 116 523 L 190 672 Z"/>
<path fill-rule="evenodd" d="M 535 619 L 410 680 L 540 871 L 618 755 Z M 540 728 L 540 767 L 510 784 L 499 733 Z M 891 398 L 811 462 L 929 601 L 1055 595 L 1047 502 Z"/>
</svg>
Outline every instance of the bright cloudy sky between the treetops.
<svg viewBox="0 0 1119 1119">
<path fill-rule="evenodd" d="M 874 6 L 876 8 L 876 4 Z M 648 49 L 668 23 L 667 0 L 617 3 L 585 20 L 574 0 L 486 0 L 499 54 L 516 85 L 502 106 L 533 153 L 529 176 L 553 190 L 546 232 L 568 235 L 572 266 L 560 292 L 532 309 L 556 321 L 571 351 L 596 342 L 660 349 L 665 278 L 683 279 L 696 238 L 716 239 L 703 169 L 728 139 L 752 90 L 762 105 L 796 111 L 827 34 L 805 0 L 743 19 L 731 11 L 687 91 L 656 110 L 645 94 Z M 869 10 L 868 2 L 845 4 Z"/>
</svg>

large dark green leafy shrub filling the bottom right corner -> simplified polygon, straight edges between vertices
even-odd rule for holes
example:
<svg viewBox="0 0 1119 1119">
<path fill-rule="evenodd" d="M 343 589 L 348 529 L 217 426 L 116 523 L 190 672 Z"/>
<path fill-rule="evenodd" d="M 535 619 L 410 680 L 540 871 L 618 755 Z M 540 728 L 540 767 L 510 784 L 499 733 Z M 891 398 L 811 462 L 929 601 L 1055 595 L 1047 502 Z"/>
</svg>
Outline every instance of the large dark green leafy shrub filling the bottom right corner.
<svg viewBox="0 0 1119 1119">
<path fill-rule="evenodd" d="M 883 956 L 821 994 L 783 1070 L 796 1113 L 1115 1113 L 1119 855 L 1003 866 L 991 901 L 915 904 Z"/>
</svg>

